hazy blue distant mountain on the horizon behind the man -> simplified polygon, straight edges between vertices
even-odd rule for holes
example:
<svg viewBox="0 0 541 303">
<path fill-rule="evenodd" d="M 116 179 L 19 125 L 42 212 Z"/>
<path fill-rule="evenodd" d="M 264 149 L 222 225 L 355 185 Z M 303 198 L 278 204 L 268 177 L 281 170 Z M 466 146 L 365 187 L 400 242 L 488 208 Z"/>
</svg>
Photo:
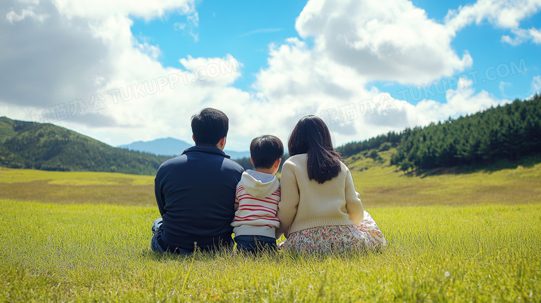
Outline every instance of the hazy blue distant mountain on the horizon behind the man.
<svg viewBox="0 0 541 303">
<path fill-rule="evenodd" d="M 186 141 L 182 141 L 175 138 L 163 138 L 155 139 L 153 141 L 137 141 L 130 144 L 118 146 L 119 148 L 126 148 L 129 150 L 137 150 L 144 153 L 151 153 L 154 155 L 167 155 L 175 156 L 180 155 L 186 148 L 193 146 Z M 241 159 L 243 157 L 250 157 L 250 152 L 237 152 L 232 150 L 224 150 L 227 155 L 231 156 L 231 159 Z"/>
</svg>

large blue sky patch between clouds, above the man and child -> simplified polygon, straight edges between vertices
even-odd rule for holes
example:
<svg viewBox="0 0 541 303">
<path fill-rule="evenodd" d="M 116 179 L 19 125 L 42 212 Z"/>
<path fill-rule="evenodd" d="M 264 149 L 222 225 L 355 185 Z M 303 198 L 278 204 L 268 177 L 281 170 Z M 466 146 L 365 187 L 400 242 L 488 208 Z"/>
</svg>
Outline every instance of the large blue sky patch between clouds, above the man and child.
<svg viewBox="0 0 541 303">
<path fill-rule="evenodd" d="M 255 73 L 266 67 L 268 45 L 281 44 L 289 37 L 298 37 L 295 18 L 304 8 L 302 1 L 200 1 L 197 11 L 199 26 L 195 40 L 185 31 L 175 29 L 175 24 L 191 22 L 186 16 L 167 15 L 160 19 L 145 21 L 134 19 L 131 26 L 135 37 L 148 39 L 160 46 L 162 64 L 182 68 L 179 58 L 187 55 L 197 57 L 223 57 L 230 53 L 242 62 L 243 76 L 235 87 L 250 90 Z"/>
</svg>

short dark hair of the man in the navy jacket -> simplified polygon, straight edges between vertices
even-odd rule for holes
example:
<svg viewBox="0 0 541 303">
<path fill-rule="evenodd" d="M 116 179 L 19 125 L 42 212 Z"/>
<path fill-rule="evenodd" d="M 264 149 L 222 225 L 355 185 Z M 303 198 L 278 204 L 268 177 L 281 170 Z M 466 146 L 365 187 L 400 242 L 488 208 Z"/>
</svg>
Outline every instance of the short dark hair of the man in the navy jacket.
<svg viewBox="0 0 541 303">
<path fill-rule="evenodd" d="M 215 146 L 227 136 L 227 130 L 229 119 L 221 110 L 207 107 L 191 116 L 191 132 L 196 145 Z"/>
</svg>

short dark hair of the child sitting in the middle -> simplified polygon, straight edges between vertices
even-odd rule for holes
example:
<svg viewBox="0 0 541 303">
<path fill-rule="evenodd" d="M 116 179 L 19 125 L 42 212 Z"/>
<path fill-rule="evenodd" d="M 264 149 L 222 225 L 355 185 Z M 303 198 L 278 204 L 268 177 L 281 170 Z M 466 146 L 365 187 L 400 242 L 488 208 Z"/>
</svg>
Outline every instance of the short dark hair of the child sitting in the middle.
<svg viewBox="0 0 541 303">
<path fill-rule="evenodd" d="M 271 168 L 283 155 L 284 145 L 273 135 L 255 137 L 250 143 L 250 156 L 255 168 Z"/>
</svg>

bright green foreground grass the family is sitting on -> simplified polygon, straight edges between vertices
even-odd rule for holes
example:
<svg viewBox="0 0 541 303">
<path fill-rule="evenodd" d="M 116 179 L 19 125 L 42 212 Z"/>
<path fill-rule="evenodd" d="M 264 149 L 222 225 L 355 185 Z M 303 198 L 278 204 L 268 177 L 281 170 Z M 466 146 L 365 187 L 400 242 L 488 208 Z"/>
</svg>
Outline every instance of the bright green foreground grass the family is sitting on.
<svg viewBox="0 0 541 303">
<path fill-rule="evenodd" d="M 248 258 L 154 254 L 154 207 L 0 207 L 1 302 L 541 300 L 541 205 L 378 208 L 381 253 Z"/>
</svg>

